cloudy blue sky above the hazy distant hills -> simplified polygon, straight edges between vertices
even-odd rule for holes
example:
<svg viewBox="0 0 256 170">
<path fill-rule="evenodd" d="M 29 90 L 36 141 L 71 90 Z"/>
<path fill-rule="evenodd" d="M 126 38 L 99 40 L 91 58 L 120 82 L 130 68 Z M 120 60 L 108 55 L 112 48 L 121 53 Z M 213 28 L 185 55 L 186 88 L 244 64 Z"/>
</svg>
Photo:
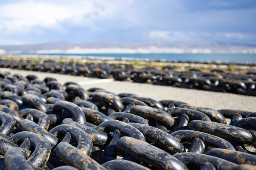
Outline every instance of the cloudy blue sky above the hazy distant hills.
<svg viewBox="0 0 256 170">
<path fill-rule="evenodd" d="M 44 42 L 256 44 L 256 0 L 0 0 L 0 45 Z"/>
</svg>

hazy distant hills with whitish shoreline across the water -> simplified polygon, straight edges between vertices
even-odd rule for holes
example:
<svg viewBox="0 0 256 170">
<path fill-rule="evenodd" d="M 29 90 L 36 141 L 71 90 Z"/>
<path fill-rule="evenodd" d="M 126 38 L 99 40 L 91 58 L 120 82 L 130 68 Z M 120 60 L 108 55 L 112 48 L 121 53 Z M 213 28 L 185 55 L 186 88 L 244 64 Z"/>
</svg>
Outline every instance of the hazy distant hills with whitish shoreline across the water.
<svg viewBox="0 0 256 170">
<path fill-rule="evenodd" d="M 35 45 L 0 46 L 2 53 L 86 54 L 86 53 L 253 53 L 256 45 L 220 42 L 51 42 Z"/>
</svg>

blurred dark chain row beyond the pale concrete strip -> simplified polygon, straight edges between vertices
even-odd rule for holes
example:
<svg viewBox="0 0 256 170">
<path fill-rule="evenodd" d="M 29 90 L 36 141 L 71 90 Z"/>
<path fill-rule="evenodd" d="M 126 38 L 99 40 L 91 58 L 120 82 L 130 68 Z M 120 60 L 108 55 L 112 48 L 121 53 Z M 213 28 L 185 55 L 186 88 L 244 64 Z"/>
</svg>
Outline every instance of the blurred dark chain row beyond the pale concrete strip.
<svg viewBox="0 0 256 170">
<path fill-rule="evenodd" d="M 173 67 L 161 70 L 154 67 L 134 68 L 132 65 L 109 64 L 63 64 L 59 62 L 0 61 L 1 68 L 25 69 L 30 71 L 72 74 L 85 77 L 114 78 L 124 81 L 150 82 L 156 85 L 169 85 L 180 88 L 193 88 L 207 91 L 228 92 L 256 96 L 256 73 L 228 73 L 221 70 L 201 71 L 190 69 L 178 71 Z"/>
</svg>

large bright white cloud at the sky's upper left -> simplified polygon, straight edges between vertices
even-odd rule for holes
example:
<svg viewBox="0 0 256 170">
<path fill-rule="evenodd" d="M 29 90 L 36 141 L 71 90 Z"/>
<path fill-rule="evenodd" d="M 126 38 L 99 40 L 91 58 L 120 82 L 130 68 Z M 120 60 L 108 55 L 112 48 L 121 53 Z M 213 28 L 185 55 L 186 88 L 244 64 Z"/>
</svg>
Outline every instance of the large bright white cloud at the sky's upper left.
<svg viewBox="0 0 256 170">
<path fill-rule="evenodd" d="M 61 23 L 69 26 L 95 27 L 95 20 L 111 19 L 116 10 L 132 1 L 72 0 L 32 1 L 0 5 L 0 30 L 6 33 L 28 32 L 34 27 L 63 30 Z"/>
</svg>

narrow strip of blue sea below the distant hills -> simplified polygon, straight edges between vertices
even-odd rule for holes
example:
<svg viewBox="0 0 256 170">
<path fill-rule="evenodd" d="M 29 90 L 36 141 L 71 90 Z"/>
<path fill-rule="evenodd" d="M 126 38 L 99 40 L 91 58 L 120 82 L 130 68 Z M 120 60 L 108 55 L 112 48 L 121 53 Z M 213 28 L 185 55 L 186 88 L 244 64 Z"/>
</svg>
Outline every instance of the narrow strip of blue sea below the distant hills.
<svg viewBox="0 0 256 170">
<path fill-rule="evenodd" d="M 23 53 L 26 54 L 26 53 Z M 140 59 L 166 59 L 169 61 L 220 61 L 220 62 L 256 62 L 256 54 L 35 54 L 52 56 L 116 57 Z"/>
</svg>

